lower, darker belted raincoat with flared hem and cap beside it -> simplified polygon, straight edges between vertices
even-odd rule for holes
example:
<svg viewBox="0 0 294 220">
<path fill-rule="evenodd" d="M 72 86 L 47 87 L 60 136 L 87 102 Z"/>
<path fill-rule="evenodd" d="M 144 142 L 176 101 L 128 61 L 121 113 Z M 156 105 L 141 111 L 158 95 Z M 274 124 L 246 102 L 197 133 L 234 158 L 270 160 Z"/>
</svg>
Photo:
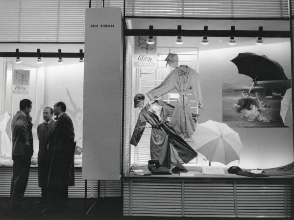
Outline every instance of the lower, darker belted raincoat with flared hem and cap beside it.
<svg viewBox="0 0 294 220">
<path fill-rule="evenodd" d="M 134 97 L 134 107 L 142 107 L 144 94 Z M 150 156 L 152 160 L 159 160 L 161 165 L 171 168 L 182 167 L 197 156 L 190 145 L 172 128 L 168 117 L 172 116 L 174 107 L 162 100 L 148 103 L 140 112 L 130 143 L 137 146 L 145 130 L 146 123 L 152 126 L 150 137 Z M 185 169 L 185 168 L 184 168 Z M 187 172 L 187 171 L 186 171 Z"/>
</svg>

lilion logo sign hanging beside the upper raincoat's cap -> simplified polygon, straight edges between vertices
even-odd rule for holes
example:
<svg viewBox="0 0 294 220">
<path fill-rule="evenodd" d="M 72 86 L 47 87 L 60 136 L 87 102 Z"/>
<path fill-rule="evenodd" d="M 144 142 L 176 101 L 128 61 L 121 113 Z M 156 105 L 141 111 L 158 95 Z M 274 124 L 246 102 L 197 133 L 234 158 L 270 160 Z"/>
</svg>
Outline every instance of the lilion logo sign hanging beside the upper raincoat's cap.
<svg viewBox="0 0 294 220">
<path fill-rule="evenodd" d="M 156 68 L 156 38 L 154 44 L 147 44 L 148 36 L 135 36 L 134 67 Z"/>
</svg>

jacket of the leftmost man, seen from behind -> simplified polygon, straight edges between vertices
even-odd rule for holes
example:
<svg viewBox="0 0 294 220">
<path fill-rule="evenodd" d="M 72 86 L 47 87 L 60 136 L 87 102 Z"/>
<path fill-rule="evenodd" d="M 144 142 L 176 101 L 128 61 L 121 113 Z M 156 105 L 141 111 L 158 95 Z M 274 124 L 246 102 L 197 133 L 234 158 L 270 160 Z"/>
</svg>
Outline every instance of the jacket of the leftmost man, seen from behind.
<svg viewBox="0 0 294 220">
<path fill-rule="evenodd" d="M 30 144 L 29 128 L 25 113 L 21 110 L 17 111 L 11 121 L 12 156 L 23 155 L 24 147 L 33 151 Z"/>
</svg>

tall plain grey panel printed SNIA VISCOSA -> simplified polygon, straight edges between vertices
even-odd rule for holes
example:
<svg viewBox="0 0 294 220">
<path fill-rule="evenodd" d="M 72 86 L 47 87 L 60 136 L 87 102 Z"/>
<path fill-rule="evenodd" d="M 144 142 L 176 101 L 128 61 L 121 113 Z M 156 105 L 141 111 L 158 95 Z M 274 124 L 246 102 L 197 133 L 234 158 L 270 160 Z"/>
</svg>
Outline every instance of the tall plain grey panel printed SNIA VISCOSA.
<svg viewBox="0 0 294 220">
<path fill-rule="evenodd" d="M 84 179 L 121 177 L 123 118 L 121 8 L 87 8 L 85 23 Z"/>
</svg>

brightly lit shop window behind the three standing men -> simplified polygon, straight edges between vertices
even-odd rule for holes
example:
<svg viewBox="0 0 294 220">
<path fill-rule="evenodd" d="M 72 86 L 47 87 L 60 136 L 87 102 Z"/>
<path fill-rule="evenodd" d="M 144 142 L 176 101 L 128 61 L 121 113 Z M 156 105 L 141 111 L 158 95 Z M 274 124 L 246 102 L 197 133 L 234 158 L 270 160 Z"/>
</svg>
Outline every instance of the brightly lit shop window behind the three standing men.
<svg viewBox="0 0 294 220">
<path fill-rule="evenodd" d="M 29 48 L 22 48 L 22 45 L 17 46 L 23 52 L 30 52 L 35 48 L 33 44 Z M 45 45 L 41 47 L 41 50 L 45 52 L 48 49 L 47 52 L 53 52 L 53 47 Z M 9 48 L 13 51 L 16 47 L 7 45 L 7 48 L 7 51 Z M 57 47 L 54 52 L 57 52 Z M 58 58 L 42 58 L 43 63 L 36 63 L 37 58 L 31 57 L 21 58 L 22 62 L 18 64 L 15 63 L 15 60 L 16 58 L 0 58 L 0 166 L 12 166 L 13 164 L 11 120 L 19 110 L 19 103 L 22 99 L 32 101 L 30 116 L 33 123 L 34 153 L 31 166 L 37 166 L 39 152 L 37 128 L 44 122 L 43 110 L 46 107 L 53 109 L 53 105 L 59 101 L 66 104 L 66 113 L 73 121 L 76 141 L 75 166 L 81 166 L 84 63 L 79 63 L 78 58 L 63 58 L 62 64 L 57 62 Z M 53 115 L 52 120 L 55 117 Z"/>
</svg>

